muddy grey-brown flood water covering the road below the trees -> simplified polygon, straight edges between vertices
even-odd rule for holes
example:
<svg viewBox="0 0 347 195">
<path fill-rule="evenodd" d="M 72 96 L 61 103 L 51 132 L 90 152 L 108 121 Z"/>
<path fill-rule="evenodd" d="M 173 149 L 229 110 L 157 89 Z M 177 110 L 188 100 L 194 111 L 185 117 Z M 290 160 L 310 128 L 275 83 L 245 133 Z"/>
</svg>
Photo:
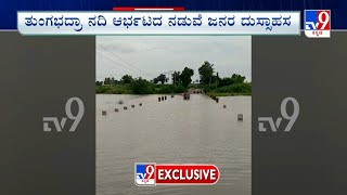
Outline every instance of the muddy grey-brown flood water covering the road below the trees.
<svg viewBox="0 0 347 195">
<path fill-rule="evenodd" d="M 158 96 L 97 95 L 97 195 L 250 195 L 252 98 L 220 98 L 216 103 L 201 94 L 190 101 L 167 95 L 158 102 Z M 237 114 L 244 115 L 243 121 Z M 143 161 L 215 164 L 221 176 L 210 186 L 139 187 L 133 166 Z"/>
</svg>

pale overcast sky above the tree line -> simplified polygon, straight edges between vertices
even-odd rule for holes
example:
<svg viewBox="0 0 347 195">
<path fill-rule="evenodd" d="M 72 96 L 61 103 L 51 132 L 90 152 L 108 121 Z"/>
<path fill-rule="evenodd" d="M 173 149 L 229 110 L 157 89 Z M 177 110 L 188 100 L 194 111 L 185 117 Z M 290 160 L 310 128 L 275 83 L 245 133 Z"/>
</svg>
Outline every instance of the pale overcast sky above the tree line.
<svg viewBox="0 0 347 195">
<path fill-rule="evenodd" d="M 97 37 L 97 80 L 128 74 L 153 79 L 170 70 L 194 69 L 208 61 L 215 64 L 220 77 L 232 74 L 246 76 L 250 81 L 250 37 L 195 36 L 104 36 Z"/>
</svg>

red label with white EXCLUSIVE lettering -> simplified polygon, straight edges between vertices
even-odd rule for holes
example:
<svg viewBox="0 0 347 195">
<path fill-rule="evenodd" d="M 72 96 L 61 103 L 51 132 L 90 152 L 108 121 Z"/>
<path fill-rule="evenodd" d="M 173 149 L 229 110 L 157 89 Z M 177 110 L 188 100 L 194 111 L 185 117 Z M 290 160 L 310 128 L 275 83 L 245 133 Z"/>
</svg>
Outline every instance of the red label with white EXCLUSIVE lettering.
<svg viewBox="0 0 347 195">
<path fill-rule="evenodd" d="M 156 165 L 156 184 L 215 184 L 219 170 L 215 165 Z"/>
</svg>

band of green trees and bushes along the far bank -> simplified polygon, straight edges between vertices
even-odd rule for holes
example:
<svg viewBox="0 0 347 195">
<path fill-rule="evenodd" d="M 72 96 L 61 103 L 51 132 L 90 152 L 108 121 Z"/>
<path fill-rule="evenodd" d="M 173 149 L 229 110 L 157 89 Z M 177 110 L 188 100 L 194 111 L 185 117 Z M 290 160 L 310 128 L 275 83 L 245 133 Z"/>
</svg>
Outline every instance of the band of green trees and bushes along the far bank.
<svg viewBox="0 0 347 195">
<path fill-rule="evenodd" d="M 105 94 L 170 94 L 182 93 L 189 89 L 201 89 L 210 96 L 250 95 L 252 83 L 245 77 L 233 74 L 231 77 L 220 78 L 215 74 L 214 64 L 204 62 L 198 68 L 200 83 L 192 83 L 194 70 L 184 67 L 182 72 L 171 74 L 172 83 L 167 83 L 166 75 L 160 74 L 149 81 L 125 75 L 118 81 L 115 78 L 105 78 L 97 81 L 97 93 Z"/>
</svg>

